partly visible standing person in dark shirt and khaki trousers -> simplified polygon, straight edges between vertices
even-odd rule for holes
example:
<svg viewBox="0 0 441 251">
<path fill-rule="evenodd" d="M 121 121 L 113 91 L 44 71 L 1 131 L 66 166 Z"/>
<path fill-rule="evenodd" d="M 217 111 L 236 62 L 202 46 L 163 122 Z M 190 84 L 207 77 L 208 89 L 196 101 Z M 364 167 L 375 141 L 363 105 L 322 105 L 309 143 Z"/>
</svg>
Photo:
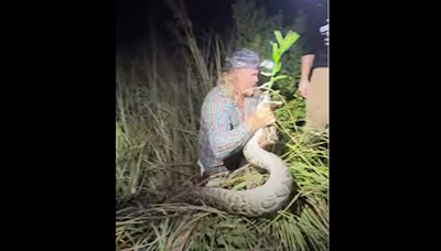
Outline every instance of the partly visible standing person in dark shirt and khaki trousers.
<svg viewBox="0 0 441 251">
<path fill-rule="evenodd" d="M 329 124 L 327 0 L 310 4 L 299 91 L 306 102 L 306 131 L 323 131 Z"/>
</svg>

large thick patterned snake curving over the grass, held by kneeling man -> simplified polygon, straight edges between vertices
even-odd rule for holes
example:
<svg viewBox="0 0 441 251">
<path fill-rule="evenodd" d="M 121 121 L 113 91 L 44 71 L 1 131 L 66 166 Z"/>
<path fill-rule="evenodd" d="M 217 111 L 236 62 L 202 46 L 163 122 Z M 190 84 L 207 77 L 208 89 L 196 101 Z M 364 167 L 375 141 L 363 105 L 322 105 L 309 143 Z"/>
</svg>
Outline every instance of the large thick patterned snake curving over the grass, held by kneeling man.
<svg viewBox="0 0 441 251">
<path fill-rule="evenodd" d="M 266 101 L 261 101 L 259 106 L 263 106 Z M 278 155 L 259 146 L 259 139 L 265 137 L 263 130 L 259 129 L 243 150 L 249 164 L 270 173 L 268 181 L 262 186 L 247 190 L 191 186 L 173 200 L 191 204 L 202 200 L 205 205 L 225 212 L 246 217 L 270 215 L 287 205 L 294 188 L 293 177 Z"/>
</svg>

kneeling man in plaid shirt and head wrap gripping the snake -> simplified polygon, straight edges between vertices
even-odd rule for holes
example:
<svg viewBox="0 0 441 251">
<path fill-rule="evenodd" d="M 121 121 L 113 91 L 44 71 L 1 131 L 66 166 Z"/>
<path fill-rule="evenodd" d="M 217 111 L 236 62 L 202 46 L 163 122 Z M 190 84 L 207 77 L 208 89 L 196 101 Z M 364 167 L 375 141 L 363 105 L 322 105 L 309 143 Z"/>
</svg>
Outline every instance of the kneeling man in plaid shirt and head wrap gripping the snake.
<svg viewBox="0 0 441 251">
<path fill-rule="evenodd" d="M 260 58 L 243 48 L 226 58 L 218 85 L 204 99 L 200 129 L 200 166 L 205 175 L 233 171 L 244 161 L 241 150 L 254 133 L 273 124 L 269 107 L 259 110 Z"/>
</svg>

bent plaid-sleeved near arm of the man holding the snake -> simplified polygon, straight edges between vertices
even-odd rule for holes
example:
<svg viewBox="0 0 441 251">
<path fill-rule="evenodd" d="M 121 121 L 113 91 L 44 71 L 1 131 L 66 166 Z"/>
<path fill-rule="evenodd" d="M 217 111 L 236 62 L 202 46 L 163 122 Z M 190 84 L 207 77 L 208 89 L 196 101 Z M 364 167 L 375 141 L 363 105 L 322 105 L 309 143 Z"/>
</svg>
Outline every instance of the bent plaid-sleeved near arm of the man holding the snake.
<svg viewBox="0 0 441 251">
<path fill-rule="evenodd" d="M 220 160 L 245 146 L 254 132 L 248 122 L 230 130 L 227 109 L 220 101 L 212 101 L 203 110 L 208 128 L 209 144 L 215 157 Z"/>
</svg>

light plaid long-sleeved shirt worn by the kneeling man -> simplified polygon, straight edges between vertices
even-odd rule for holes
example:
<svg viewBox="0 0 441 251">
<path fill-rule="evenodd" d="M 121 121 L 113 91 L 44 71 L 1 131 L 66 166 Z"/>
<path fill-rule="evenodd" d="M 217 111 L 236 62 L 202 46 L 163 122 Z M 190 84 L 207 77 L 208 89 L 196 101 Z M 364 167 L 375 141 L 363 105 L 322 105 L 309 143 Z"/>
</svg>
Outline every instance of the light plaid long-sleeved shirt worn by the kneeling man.
<svg viewBox="0 0 441 251">
<path fill-rule="evenodd" d="M 245 118 L 256 110 L 258 102 L 259 97 L 246 97 L 244 114 L 224 86 L 216 86 L 207 94 L 202 105 L 200 129 L 200 162 L 207 173 L 240 165 L 241 150 L 252 137 Z"/>
</svg>

